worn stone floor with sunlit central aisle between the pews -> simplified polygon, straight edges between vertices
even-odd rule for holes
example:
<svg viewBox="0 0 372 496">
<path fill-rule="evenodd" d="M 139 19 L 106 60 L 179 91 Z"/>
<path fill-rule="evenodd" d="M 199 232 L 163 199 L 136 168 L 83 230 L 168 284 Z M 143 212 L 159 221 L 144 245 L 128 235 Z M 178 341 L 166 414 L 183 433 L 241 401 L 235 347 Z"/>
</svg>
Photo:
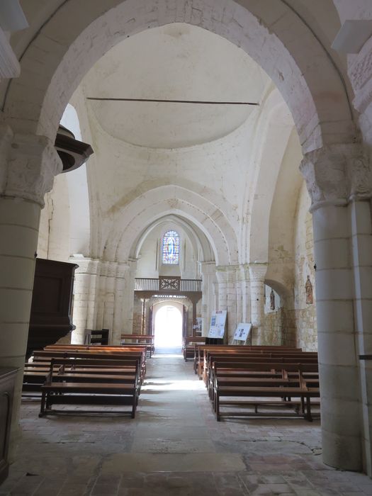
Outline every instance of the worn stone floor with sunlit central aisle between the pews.
<svg viewBox="0 0 372 496">
<path fill-rule="evenodd" d="M 372 495 L 372 480 L 322 464 L 320 424 L 303 419 L 216 422 L 181 356 L 149 360 L 136 419 L 38 418 L 0 496 Z"/>
</svg>

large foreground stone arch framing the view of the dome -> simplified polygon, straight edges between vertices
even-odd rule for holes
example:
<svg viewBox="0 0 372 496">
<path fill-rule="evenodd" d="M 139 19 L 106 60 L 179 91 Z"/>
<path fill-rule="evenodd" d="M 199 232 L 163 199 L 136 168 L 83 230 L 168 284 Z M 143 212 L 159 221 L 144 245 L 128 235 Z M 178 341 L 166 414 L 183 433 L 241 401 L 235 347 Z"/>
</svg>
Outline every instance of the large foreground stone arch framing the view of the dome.
<svg viewBox="0 0 372 496">
<path fill-rule="evenodd" d="M 303 18 L 276 0 L 90 0 L 84 10 L 82 2 L 65 2 L 21 56 L 21 77 L 9 83 L 3 106 L 9 122 L 54 140 L 69 98 L 96 60 L 130 35 L 176 22 L 221 35 L 263 67 L 291 110 L 304 152 L 354 136 L 342 74 Z"/>
</svg>

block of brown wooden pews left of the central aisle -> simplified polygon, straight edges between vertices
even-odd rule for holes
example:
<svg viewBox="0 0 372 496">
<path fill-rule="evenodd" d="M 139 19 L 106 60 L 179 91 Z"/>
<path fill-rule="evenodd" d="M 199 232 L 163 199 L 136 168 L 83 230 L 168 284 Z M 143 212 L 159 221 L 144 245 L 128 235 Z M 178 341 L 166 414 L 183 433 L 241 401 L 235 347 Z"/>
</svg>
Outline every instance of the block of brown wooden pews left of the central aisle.
<svg viewBox="0 0 372 496">
<path fill-rule="evenodd" d="M 146 346 L 46 346 L 25 364 L 23 395 L 41 393 L 40 417 L 58 413 L 123 415 L 135 411 L 146 373 Z M 56 410 L 53 405 L 130 406 Z"/>
</svg>

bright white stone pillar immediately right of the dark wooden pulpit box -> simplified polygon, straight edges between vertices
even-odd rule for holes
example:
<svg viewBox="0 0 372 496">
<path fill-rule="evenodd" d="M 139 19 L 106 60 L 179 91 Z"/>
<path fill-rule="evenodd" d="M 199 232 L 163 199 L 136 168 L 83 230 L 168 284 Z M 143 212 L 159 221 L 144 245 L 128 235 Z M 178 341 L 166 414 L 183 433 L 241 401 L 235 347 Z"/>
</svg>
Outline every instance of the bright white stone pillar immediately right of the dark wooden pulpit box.
<svg viewBox="0 0 372 496">
<path fill-rule="evenodd" d="M 85 329 L 93 329 L 94 305 L 96 302 L 96 279 L 98 260 L 75 255 L 69 262 L 79 267 L 74 277 L 74 310 L 72 321 L 76 327 L 72 331 L 72 344 L 84 344 Z M 90 324 L 90 325 L 89 325 Z"/>
</svg>

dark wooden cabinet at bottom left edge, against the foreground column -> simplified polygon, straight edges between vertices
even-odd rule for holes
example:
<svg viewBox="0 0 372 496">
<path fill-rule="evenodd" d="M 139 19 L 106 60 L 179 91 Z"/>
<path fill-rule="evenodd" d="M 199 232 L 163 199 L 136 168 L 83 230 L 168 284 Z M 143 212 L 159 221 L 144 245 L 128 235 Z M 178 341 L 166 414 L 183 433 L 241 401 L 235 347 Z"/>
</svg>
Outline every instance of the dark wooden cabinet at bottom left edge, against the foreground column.
<svg viewBox="0 0 372 496">
<path fill-rule="evenodd" d="M 13 407 L 14 383 L 18 368 L 0 367 L 0 484 L 8 476 L 9 437 Z"/>
</svg>

